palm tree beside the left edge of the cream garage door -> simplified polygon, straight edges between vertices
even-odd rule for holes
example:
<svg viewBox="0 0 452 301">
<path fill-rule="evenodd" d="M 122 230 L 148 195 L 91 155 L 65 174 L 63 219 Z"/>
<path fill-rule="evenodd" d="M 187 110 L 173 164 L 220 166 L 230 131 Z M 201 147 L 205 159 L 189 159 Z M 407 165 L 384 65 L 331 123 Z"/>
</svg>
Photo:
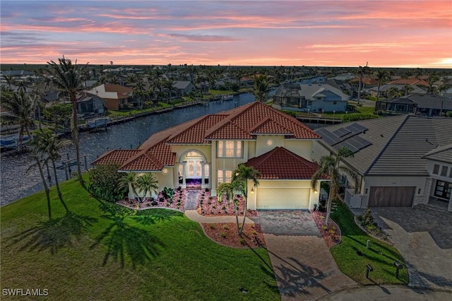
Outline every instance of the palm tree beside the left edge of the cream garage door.
<svg viewBox="0 0 452 301">
<path fill-rule="evenodd" d="M 246 211 L 248 211 L 248 180 L 252 180 L 254 187 L 256 187 L 259 184 L 259 177 L 261 177 L 261 172 L 252 166 L 248 167 L 244 164 L 240 164 L 239 167 L 232 171 L 231 183 L 234 183 L 234 187 L 240 188 L 245 201 L 242 227 L 239 230 L 239 236 L 242 236 L 246 220 Z"/>
</svg>

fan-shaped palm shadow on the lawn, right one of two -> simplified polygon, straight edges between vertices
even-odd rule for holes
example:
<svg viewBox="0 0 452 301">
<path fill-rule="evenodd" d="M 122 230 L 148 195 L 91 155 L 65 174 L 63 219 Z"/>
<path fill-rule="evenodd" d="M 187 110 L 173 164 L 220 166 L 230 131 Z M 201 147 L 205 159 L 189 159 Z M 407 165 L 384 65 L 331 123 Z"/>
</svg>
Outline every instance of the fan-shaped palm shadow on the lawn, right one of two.
<svg viewBox="0 0 452 301">
<path fill-rule="evenodd" d="M 102 201 L 100 203 L 100 208 L 105 211 L 102 217 L 111 220 L 111 223 L 96 237 L 90 249 L 94 249 L 99 244 L 107 246 L 102 266 L 105 266 L 111 258 L 119 261 L 121 268 L 124 268 L 126 261 L 131 261 L 135 268 L 136 265 L 145 264 L 160 254 L 161 249 L 165 247 L 161 240 L 150 235 L 148 230 L 126 223 L 126 217 L 131 214 L 131 210 Z M 139 215 L 135 219 L 143 225 L 155 223 L 155 218 L 145 215 Z"/>
</svg>

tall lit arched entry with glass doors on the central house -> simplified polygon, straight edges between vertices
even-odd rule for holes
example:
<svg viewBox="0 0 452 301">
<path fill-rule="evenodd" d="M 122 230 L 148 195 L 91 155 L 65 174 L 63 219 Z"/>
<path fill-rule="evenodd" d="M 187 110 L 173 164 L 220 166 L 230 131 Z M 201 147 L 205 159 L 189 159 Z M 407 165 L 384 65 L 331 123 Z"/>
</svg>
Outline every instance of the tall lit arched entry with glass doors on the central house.
<svg viewBox="0 0 452 301">
<path fill-rule="evenodd" d="M 186 151 L 179 162 L 179 184 L 182 187 L 209 187 L 209 165 L 203 153 L 196 150 Z"/>
</svg>

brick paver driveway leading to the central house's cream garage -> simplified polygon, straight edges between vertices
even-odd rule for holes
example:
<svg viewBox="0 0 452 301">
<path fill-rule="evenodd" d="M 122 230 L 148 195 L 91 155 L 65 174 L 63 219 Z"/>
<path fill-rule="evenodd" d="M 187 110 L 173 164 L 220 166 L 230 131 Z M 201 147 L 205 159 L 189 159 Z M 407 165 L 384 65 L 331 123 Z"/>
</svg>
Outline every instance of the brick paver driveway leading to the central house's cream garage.
<svg viewBox="0 0 452 301">
<path fill-rule="evenodd" d="M 317 300 L 357 286 L 336 266 L 307 211 L 259 211 L 282 300 Z"/>
</svg>

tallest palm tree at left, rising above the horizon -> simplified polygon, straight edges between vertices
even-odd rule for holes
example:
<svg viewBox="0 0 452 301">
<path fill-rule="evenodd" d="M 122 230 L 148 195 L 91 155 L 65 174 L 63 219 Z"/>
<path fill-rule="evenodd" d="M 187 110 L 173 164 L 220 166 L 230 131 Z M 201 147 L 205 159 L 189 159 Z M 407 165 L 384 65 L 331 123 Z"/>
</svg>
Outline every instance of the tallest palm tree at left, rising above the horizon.
<svg viewBox="0 0 452 301">
<path fill-rule="evenodd" d="M 54 61 L 47 62 L 52 67 L 54 73 L 54 84 L 59 88 L 72 104 L 72 117 L 71 117 L 71 130 L 73 143 L 76 146 L 76 160 L 77 160 L 77 175 L 78 181 L 85 187 L 85 182 L 82 178 L 82 170 L 80 163 L 80 146 L 78 144 L 78 124 L 77 124 L 77 93 L 84 90 L 83 87 L 83 70 L 88 65 L 72 64 L 70 59 L 66 59 L 64 56 L 58 59 L 59 64 Z"/>
</svg>

